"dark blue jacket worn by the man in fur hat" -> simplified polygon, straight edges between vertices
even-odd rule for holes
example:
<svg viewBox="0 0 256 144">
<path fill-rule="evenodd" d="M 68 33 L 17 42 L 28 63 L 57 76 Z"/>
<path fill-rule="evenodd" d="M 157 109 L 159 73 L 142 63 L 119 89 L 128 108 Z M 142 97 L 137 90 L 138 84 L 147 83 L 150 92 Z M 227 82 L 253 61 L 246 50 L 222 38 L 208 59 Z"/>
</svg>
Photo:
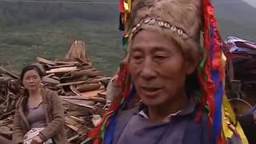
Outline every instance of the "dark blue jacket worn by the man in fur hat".
<svg viewBox="0 0 256 144">
<path fill-rule="evenodd" d="M 195 104 L 170 118 L 170 122 L 151 122 L 139 108 L 118 114 L 113 144 L 212 144 L 207 115 L 194 120 Z"/>
</svg>

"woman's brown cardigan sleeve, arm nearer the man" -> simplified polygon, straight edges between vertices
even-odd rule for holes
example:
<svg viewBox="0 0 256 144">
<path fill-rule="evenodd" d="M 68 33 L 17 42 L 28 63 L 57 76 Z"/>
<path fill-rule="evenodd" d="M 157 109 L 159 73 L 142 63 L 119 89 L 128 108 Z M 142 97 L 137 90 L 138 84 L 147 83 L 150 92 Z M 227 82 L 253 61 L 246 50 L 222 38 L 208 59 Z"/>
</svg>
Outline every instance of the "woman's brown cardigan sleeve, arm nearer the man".
<svg viewBox="0 0 256 144">
<path fill-rule="evenodd" d="M 55 134 L 58 134 L 59 130 L 63 130 L 64 127 L 64 107 L 62 106 L 62 102 L 58 97 L 58 94 L 55 92 L 50 92 L 51 95 L 51 115 L 52 120 L 46 128 L 38 134 L 39 138 L 45 142 L 49 138 L 53 138 Z"/>
</svg>

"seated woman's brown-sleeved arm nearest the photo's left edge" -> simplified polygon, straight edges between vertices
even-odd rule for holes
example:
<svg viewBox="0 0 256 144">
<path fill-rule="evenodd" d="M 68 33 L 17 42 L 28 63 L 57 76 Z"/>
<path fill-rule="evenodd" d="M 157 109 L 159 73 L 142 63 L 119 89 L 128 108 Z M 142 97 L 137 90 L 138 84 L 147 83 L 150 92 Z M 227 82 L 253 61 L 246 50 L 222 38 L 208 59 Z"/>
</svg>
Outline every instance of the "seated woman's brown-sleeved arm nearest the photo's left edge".
<svg viewBox="0 0 256 144">
<path fill-rule="evenodd" d="M 18 113 L 18 106 L 16 106 L 13 122 L 13 142 L 15 144 L 23 143 L 24 131 L 22 130 L 22 126 L 20 125 L 21 120 L 22 119 Z"/>
</svg>

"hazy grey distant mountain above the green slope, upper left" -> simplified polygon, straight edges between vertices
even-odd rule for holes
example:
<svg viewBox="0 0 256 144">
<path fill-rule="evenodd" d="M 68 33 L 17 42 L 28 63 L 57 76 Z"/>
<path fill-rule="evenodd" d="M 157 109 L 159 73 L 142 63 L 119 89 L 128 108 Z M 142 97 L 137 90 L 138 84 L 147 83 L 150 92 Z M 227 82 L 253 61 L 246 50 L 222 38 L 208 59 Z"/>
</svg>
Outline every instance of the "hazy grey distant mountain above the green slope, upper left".
<svg viewBox="0 0 256 144">
<path fill-rule="evenodd" d="M 20 26 L 28 22 L 37 21 L 65 22 L 70 19 L 116 23 L 117 21 L 115 20 L 118 19 L 118 4 L 114 0 L 102 2 L 94 0 L 0 2 L 1 27 Z"/>
</svg>

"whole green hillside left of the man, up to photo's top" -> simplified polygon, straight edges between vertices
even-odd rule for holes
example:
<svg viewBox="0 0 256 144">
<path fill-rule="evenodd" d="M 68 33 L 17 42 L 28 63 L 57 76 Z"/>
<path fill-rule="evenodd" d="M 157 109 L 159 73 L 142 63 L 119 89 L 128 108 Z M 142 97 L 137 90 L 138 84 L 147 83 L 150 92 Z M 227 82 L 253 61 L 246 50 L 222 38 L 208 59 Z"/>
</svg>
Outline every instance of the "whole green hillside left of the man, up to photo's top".
<svg viewBox="0 0 256 144">
<path fill-rule="evenodd" d="M 112 75 L 123 57 L 117 5 L 4 3 L 0 10 L 0 65 L 9 69 L 36 56 L 62 58 L 74 39 L 86 42 L 103 74 Z"/>
</svg>

